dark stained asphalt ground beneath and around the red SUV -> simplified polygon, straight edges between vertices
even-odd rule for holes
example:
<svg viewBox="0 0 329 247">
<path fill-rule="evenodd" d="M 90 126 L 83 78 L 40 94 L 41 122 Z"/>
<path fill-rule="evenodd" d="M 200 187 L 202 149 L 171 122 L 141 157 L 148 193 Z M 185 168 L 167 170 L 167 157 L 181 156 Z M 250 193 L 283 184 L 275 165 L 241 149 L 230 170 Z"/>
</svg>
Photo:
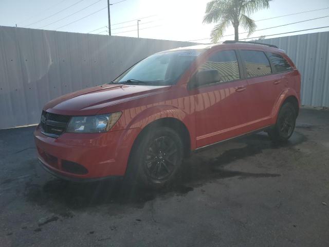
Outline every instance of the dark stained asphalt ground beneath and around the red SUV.
<svg viewBox="0 0 329 247">
<path fill-rule="evenodd" d="M 0 130 L 0 246 L 329 246 L 329 111 L 194 153 L 159 192 L 75 184 L 38 164 L 34 127 Z"/>
</svg>

